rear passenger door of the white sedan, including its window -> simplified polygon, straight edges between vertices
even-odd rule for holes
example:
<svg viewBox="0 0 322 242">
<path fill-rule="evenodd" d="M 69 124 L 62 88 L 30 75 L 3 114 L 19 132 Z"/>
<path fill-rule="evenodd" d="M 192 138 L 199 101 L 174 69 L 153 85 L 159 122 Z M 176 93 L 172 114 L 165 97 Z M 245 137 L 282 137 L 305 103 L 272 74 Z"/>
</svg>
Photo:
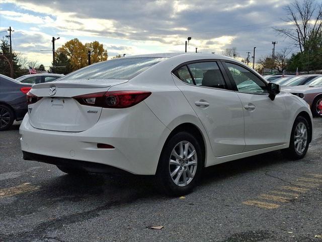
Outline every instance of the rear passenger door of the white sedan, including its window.
<svg viewBox="0 0 322 242">
<path fill-rule="evenodd" d="M 243 107 L 237 94 L 228 90 L 229 83 L 224 81 L 218 63 L 188 63 L 177 68 L 174 74 L 178 78 L 176 85 L 207 131 L 214 156 L 243 152 Z"/>
</svg>

